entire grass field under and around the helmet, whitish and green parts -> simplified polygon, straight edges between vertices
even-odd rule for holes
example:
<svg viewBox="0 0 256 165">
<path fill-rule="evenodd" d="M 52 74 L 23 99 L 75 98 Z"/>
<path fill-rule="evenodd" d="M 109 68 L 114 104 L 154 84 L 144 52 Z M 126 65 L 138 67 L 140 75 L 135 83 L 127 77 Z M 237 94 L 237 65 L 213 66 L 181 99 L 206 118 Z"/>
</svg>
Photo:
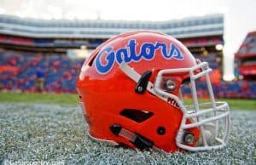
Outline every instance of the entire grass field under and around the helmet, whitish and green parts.
<svg viewBox="0 0 256 165">
<path fill-rule="evenodd" d="M 251 111 L 255 110 L 255 101 L 228 102 L 231 110 L 236 111 L 231 111 L 230 143 L 227 147 L 218 151 L 167 154 L 92 141 L 86 135 L 88 128 L 74 94 L 0 93 L 0 164 L 17 161 L 256 164 L 256 111 Z"/>
</svg>

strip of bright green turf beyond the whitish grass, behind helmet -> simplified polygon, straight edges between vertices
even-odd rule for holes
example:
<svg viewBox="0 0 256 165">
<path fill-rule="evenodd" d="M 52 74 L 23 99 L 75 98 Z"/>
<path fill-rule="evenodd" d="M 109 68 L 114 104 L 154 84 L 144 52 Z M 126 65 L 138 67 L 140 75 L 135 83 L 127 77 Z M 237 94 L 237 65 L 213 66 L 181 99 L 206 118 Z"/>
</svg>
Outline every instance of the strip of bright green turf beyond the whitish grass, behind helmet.
<svg viewBox="0 0 256 165">
<path fill-rule="evenodd" d="M 227 101 L 231 110 L 255 110 L 256 100 L 220 99 Z M 0 93 L 0 102 L 38 102 L 75 105 L 78 103 L 77 94 L 33 94 L 33 93 Z M 187 100 L 186 104 L 192 104 Z"/>
</svg>

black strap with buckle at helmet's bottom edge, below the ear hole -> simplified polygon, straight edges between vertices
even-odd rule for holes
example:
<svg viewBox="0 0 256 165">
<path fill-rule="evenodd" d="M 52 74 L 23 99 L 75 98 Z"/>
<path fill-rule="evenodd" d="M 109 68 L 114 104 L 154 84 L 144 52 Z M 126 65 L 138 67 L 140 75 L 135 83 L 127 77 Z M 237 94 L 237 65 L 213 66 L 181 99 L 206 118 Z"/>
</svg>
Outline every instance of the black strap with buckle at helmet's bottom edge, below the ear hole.
<svg viewBox="0 0 256 165">
<path fill-rule="evenodd" d="M 113 134 L 122 136 L 125 139 L 128 139 L 131 144 L 135 145 L 138 149 L 144 151 L 153 149 L 154 151 L 162 151 L 160 148 L 156 147 L 152 141 L 146 139 L 145 137 L 135 134 L 128 129 L 122 128 L 118 124 L 114 124 L 109 127 Z"/>
</svg>

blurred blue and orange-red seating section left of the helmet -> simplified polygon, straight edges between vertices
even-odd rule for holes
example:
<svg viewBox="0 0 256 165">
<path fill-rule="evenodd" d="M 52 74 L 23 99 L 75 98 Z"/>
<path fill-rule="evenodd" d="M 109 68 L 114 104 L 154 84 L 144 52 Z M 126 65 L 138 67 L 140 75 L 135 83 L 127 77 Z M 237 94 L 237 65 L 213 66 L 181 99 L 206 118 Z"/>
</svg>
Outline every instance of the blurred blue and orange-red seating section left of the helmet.
<svg viewBox="0 0 256 165">
<path fill-rule="evenodd" d="M 1 51 L 0 65 L 17 68 L 0 72 L 2 90 L 35 92 L 38 71 L 44 72 L 44 91 L 75 93 L 75 82 L 82 60 L 70 60 L 66 54 L 36 54 Z"/>
</svg>

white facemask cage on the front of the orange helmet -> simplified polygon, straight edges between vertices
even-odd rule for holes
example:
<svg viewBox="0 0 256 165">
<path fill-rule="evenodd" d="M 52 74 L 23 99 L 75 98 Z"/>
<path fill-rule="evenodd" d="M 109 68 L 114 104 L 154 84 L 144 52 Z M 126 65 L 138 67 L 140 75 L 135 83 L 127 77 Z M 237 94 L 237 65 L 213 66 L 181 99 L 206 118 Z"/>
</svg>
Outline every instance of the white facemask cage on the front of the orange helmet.
<svg viewBox="0 0 256 165">
<path fill-rule="evenodd" d="M 199 73 L 195 73 L 197 70 L 201 70 Z M 157 95 L 159 95 L 160 97 L 164 97 L 164 98 L 172 98 L 173 100 L 177 101 L 177 105 L 179 105 L 180 109 L 183 111 L 183 120 L 181 123 L 181 127 L 179 128 L 179 131 L 177 133 L 177 145 L 180 148 L 183 148 L 185 150 L 189 150 L 189 151 L 206 151 L 206 150 L 211 150 L 211 149 L 217 149 L 217 148 L 222 148 L 224 145 L 227 144 L 227 137 L 229 135 L 230 132 L 230 111 L 229 111 L 229 106 L 227 105 L 227 103 L 216 103 L 215 99 L 214 99 L 214 95 L 212 92 L 212 84 L 210 81 L 210 77 L 209 77 L 209 72 L 212 71 L 212 69 L 210 69 L 208 67 L 208 63 L 207 62 L 202 62 L 199 65 L 195 65 L 192 68 L 180 68 L 180 69 L 166 69 L 166 70 L 161 70 L 155 80 L 154 83 L 154 91 Z M 194 113 L 189 113 L 189 111 L 186 110 L 186 106 L 183 104 L 183 100 L 182 100 L 182 94 L 179 94 L 179 97 L 181 98 L 181 100 L 179 98 L 177 98 L 176 95 L 173 94 L 169 94 L 167 92 L 165 92 L 163 89 L 160 88 L 160 83 L 163 81 L 163 75 L 164 74 L 177 74 L 177 73 L 182 73 L 182 72 L 189 72 L 189 77 L 190 77 L 190 85 L 191 85 L 191 93 L 192 93 L 192 98 L 193 98 L 193 102 L 194 102 L 194 108 L 195 108 L 195 112 Z M 198 103 L 198 99 L 197 99 L 197 93 L 196 93 L 196 87 L 195 87 L 195 80 L 197 78 L 203 77 L 205 76 L 207 79 L 207 90 L 210 96 L 210 100 L 211 100 L 211 105 L 212 108 L 209 109 L 204 109 L 204 110 L 200 110 L 199 107 L 199 103 Z M 218 105 L 217 105 L 218 104 Z M 223 111 L 224 110 L 224 111 Z M 221 115 L 217 115 L 217 111 L 221 111 L 222 114 Z M 207 113 L 213 112 L 214 113 L 214 117 L 209 117 L 207 119 L 201 120 L 200 121 L 200 117 L 202 115 L 205 115 Z M 191 118 L 195 118 L 195 121 L 189 124 L 186 124 L 186 121 L 188 119 Z M 225 118 L 225 128 L 224 128 L 224 138 L 223 139 L 219 139 L 218 138 L 218 120 Z M 214 122 L 215 124 L 215 137 L 214 139 L 217 140 L 220 145 L 208 145 L 207 144 L 207 137 L 205 134 L 205 129 L 204 129 L 204 124 L 206 124 L 207 122 Z M 183 135 L 185 134 L 185 129 L 188 128 L 199 128 L 201 131 L 201 139 L 203 142 L 203 146 L 190 146 L 190 145 L 185 145 L 183 143 Z"/>
</svg>

